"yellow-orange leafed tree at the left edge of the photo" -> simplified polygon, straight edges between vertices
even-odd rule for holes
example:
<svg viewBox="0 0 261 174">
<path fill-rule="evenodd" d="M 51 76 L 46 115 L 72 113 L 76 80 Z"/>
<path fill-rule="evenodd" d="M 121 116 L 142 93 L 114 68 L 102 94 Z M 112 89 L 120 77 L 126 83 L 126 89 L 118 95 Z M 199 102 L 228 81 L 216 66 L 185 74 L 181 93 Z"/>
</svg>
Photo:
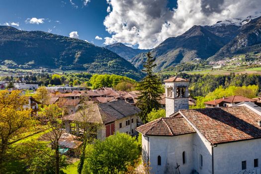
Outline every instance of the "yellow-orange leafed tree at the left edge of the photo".
<svg viewBox="0 0 261 174">
<path fill-rule="evenodd" d="M 29 99 L 21 91 L 0 90 L 0 173 L 9 160 L 8 150 L 32 123 Z"/>
</svg>

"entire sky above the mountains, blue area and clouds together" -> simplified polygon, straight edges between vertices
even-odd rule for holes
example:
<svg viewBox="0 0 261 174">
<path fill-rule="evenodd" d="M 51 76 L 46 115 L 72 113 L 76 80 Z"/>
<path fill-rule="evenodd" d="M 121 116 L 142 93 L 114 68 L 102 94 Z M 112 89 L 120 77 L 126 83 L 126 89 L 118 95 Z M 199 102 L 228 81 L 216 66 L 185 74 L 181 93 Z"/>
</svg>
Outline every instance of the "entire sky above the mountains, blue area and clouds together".
<svg viewBox="0 0 261 174">
<path fill-rule="evenodd" d="M 261 0 L 0 0 L 0 25 L 150 49 L 193 25 L 260 12 Z"/>
</svg>

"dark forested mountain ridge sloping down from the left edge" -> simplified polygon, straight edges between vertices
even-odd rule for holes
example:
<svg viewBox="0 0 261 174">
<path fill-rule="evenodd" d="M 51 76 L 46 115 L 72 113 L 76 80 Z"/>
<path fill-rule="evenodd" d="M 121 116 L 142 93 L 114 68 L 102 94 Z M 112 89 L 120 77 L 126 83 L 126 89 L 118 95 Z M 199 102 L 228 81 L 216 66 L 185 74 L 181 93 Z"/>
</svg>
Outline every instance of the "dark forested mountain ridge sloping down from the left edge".
<svg viewBox="0 0 261 174">
<path fill-rule="evenodd" d="M 142 73 L 106 48 L 42 31 L 0 26 L 0 62 L 17 67 L 44 67 L 117 74 L 139 80 Z"/>
</svg>

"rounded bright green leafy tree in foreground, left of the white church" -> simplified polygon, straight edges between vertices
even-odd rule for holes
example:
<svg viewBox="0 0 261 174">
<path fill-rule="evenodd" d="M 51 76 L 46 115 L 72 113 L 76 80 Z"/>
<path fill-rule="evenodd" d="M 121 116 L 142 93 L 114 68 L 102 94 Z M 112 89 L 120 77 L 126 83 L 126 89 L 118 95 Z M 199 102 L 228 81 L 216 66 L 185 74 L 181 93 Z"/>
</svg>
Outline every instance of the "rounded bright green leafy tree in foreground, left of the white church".
<svg viewBox="0 0 261 174">
<path fill-rule="evenodd" d="M 87 152 L 83 174 L 119 174 L 134 165 L 140 149 L 135 137 L 117 132 L 104 141 L 88 145 Z"/>
</svg>

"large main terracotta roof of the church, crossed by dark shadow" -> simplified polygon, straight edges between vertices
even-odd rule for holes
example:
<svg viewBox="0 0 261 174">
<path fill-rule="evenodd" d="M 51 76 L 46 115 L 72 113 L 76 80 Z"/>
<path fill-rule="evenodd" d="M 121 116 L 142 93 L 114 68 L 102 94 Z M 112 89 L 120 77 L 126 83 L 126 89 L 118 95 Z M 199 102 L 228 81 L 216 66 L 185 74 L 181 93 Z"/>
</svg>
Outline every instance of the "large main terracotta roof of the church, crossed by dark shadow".
<svg viewBox="0 0 261 174">
<path fill-rule="evenodd" d="M 211 143 L 261 138 L 261 116 L 245 106 L 179 110 Z"/>
</svg>

